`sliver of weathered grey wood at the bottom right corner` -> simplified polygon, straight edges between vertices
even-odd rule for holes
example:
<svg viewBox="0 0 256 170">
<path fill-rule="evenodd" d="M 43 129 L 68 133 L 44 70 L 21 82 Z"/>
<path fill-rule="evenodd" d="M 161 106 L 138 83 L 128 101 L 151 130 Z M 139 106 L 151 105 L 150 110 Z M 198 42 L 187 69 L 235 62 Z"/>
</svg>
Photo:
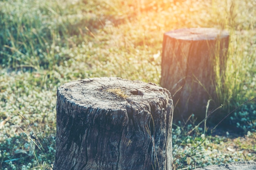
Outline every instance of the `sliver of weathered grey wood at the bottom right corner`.
<svg viewBox="0 0 256 170">
<path fill-rule="evenodd" d="M 256 170 L 256 162 L 232 162 L 229 164 L 206 166 L 195 170 Z"/>
</svg>

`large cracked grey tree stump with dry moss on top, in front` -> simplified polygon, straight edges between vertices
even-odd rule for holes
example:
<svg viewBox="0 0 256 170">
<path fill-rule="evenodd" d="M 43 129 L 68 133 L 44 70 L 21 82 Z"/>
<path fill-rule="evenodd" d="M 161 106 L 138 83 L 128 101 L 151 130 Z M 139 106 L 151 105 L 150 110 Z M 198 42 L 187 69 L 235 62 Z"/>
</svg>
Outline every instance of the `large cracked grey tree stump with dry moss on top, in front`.
<svg viewBox="0 0 256 170">
<path fill-rule="evenodd" d="M 171 94 L 154 83 L 65 83 L 57 91 L 54 170 L 171 170 L 172 116 Z"/>
</svg>

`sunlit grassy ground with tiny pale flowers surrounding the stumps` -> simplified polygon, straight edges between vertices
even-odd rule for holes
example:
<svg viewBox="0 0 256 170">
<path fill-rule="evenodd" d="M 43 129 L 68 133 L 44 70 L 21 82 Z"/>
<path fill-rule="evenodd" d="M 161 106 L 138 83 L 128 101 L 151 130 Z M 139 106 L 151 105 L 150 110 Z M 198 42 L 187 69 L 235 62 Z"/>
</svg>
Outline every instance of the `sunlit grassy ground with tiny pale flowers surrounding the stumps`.
<svg viewBox="0 0 256 170">
<path fill-rule="evenodd" d="M 218 82 L 216 89 L 223 108 L 216 113 L 225 116 L 238 107 L 225 122 L 243 135 L 237 137 L 230 130 L 205 134 L 201 126 L 188 135 L 197 126 L 193 117 L 185 125 L 175 122 L 175 167 L 188 167 L 189 158 L 197 167 L 256 160 L 256 102 L 239 107 L 256 94 L 255 3 L 0 1 L 1 169 L 51 169 L 58 86 L 101 76 L 159 84 L 163 33 L 188 27 L 229 31 L 226 84 L 222 88 Z M 227 150 L 228 146 L 232 148 Z"/>
</svg>

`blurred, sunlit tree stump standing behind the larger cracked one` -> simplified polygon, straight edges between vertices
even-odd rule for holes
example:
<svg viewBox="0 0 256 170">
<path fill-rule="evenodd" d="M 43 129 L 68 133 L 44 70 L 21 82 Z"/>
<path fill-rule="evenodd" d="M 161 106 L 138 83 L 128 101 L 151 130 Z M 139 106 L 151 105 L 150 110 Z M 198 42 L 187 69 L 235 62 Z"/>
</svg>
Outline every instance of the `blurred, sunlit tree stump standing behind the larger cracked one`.
<svg viewBox="0 0 256 170">
<path fill-rule="evenodd" d="M 198 120 L 219 106 L 217 77 L 224 84 L 229 33 L 215 28 L 185 28 L 164 34 L 161 85 L 173 94 L 174 119 Z M 176 93 L 177 92 L 177 93 Z M 176 93 L 176 94 L 175 94 Z"/>
</svg>

